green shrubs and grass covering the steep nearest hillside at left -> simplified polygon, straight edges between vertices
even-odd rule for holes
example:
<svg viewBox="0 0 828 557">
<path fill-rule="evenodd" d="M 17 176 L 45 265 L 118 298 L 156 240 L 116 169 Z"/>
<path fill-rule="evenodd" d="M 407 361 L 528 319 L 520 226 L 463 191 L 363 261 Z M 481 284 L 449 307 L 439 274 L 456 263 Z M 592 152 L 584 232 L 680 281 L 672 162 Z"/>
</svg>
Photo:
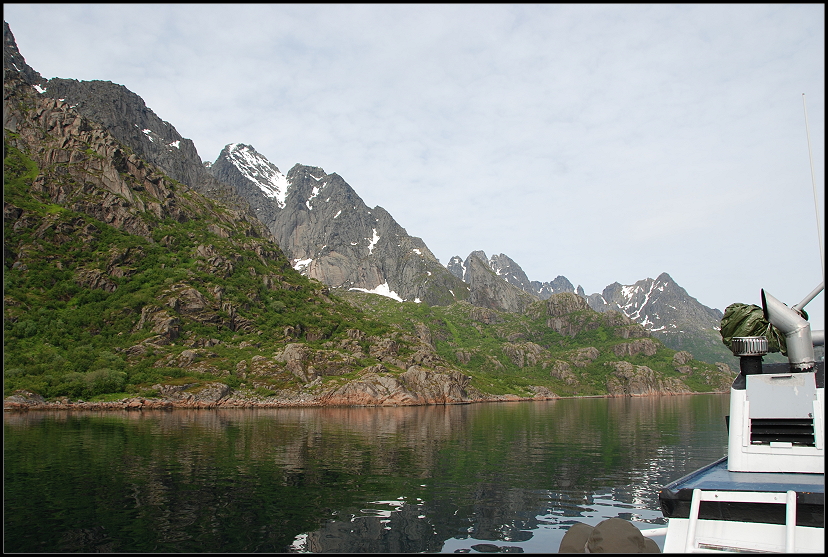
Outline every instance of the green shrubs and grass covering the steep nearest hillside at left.
<svg viewBox="0 0 828 557">
<path fill-rule="evenodd" d="M 22 218 L 4 221 L 5 396 L 17 389 L 49 398 L 125 396 L 174 379 L 238 386 L 237 364 L 284 345 L 285 328 L 309 345 L 344 338 L 347 329 L 367 335 L 387 331 L 325 296 L 326 289 L 290 268 L 273 244 L 220 236 L 211 223 L 196 220 L 158 222 L 152 238 L 127 234 L 39 199 L 30 189 L 38 174 L 31 158 L 4 142 L 4 200 L 24 211 Z M 221 274 L 209 257 L 198 255 L 199 246 L 209 246 L 227 263 Z M 260 255 L 262 248 L 267 257 Z M 268 287 L 265 277 L 278 286 Z M 143 357 L 130 357 L 128 348 L 157 336 L 149 325 L 137 326 L 142 309 L 186 288 L 208 299 L 219 288 L 222 309 L 214 315 L 178 315 L 177 342 L 163 348 L 148 344 Z M 228 310 L 250 325 L 234 327 Z M 212 373 L 157 366 L 154 351 L 180 354 L 188 341 L 198 339 L 218 341 L 207 362 Z M 250 346 L 240 348 L 245 341 Z"/>
</svg>

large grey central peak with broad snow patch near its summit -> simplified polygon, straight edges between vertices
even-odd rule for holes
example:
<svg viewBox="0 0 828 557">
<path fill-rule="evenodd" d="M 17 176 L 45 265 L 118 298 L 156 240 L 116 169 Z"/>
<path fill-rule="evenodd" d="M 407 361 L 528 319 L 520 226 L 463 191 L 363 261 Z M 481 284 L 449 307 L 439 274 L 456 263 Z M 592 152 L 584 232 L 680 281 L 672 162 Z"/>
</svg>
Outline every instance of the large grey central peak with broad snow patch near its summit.
<svg viewBox="0 0 828 557">
<path fill-rule="evenodd" d="M 338 174 L 301 164 L 283 174 L 252 146 L 227 145 L 209 171 L 232 186 L 295 268 L 332 288 L 447 305 L 468 299 L 425 243 Z"/>
</svg>

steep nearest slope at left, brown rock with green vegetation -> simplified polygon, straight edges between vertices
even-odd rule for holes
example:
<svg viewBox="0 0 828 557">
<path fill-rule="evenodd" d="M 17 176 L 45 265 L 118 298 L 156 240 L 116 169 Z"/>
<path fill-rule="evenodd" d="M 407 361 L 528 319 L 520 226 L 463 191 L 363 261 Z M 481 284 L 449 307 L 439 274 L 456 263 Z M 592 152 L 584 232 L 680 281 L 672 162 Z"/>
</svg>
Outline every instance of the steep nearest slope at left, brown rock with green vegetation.
<svg viewBox="0 0 828 557">
<path fill-rule="evenodd" d="M 16 50 L 8 26 L 5 45 Z M 349 374 L 397 402 L 483 396 L 436 369 L 443 360 L 418 337 L 300 275 L 254 215 L 142 159 L 17 62 L 7 58 L 3 76 L 12 407 L 370 398 L 348 390 Z"/>
</svg>

